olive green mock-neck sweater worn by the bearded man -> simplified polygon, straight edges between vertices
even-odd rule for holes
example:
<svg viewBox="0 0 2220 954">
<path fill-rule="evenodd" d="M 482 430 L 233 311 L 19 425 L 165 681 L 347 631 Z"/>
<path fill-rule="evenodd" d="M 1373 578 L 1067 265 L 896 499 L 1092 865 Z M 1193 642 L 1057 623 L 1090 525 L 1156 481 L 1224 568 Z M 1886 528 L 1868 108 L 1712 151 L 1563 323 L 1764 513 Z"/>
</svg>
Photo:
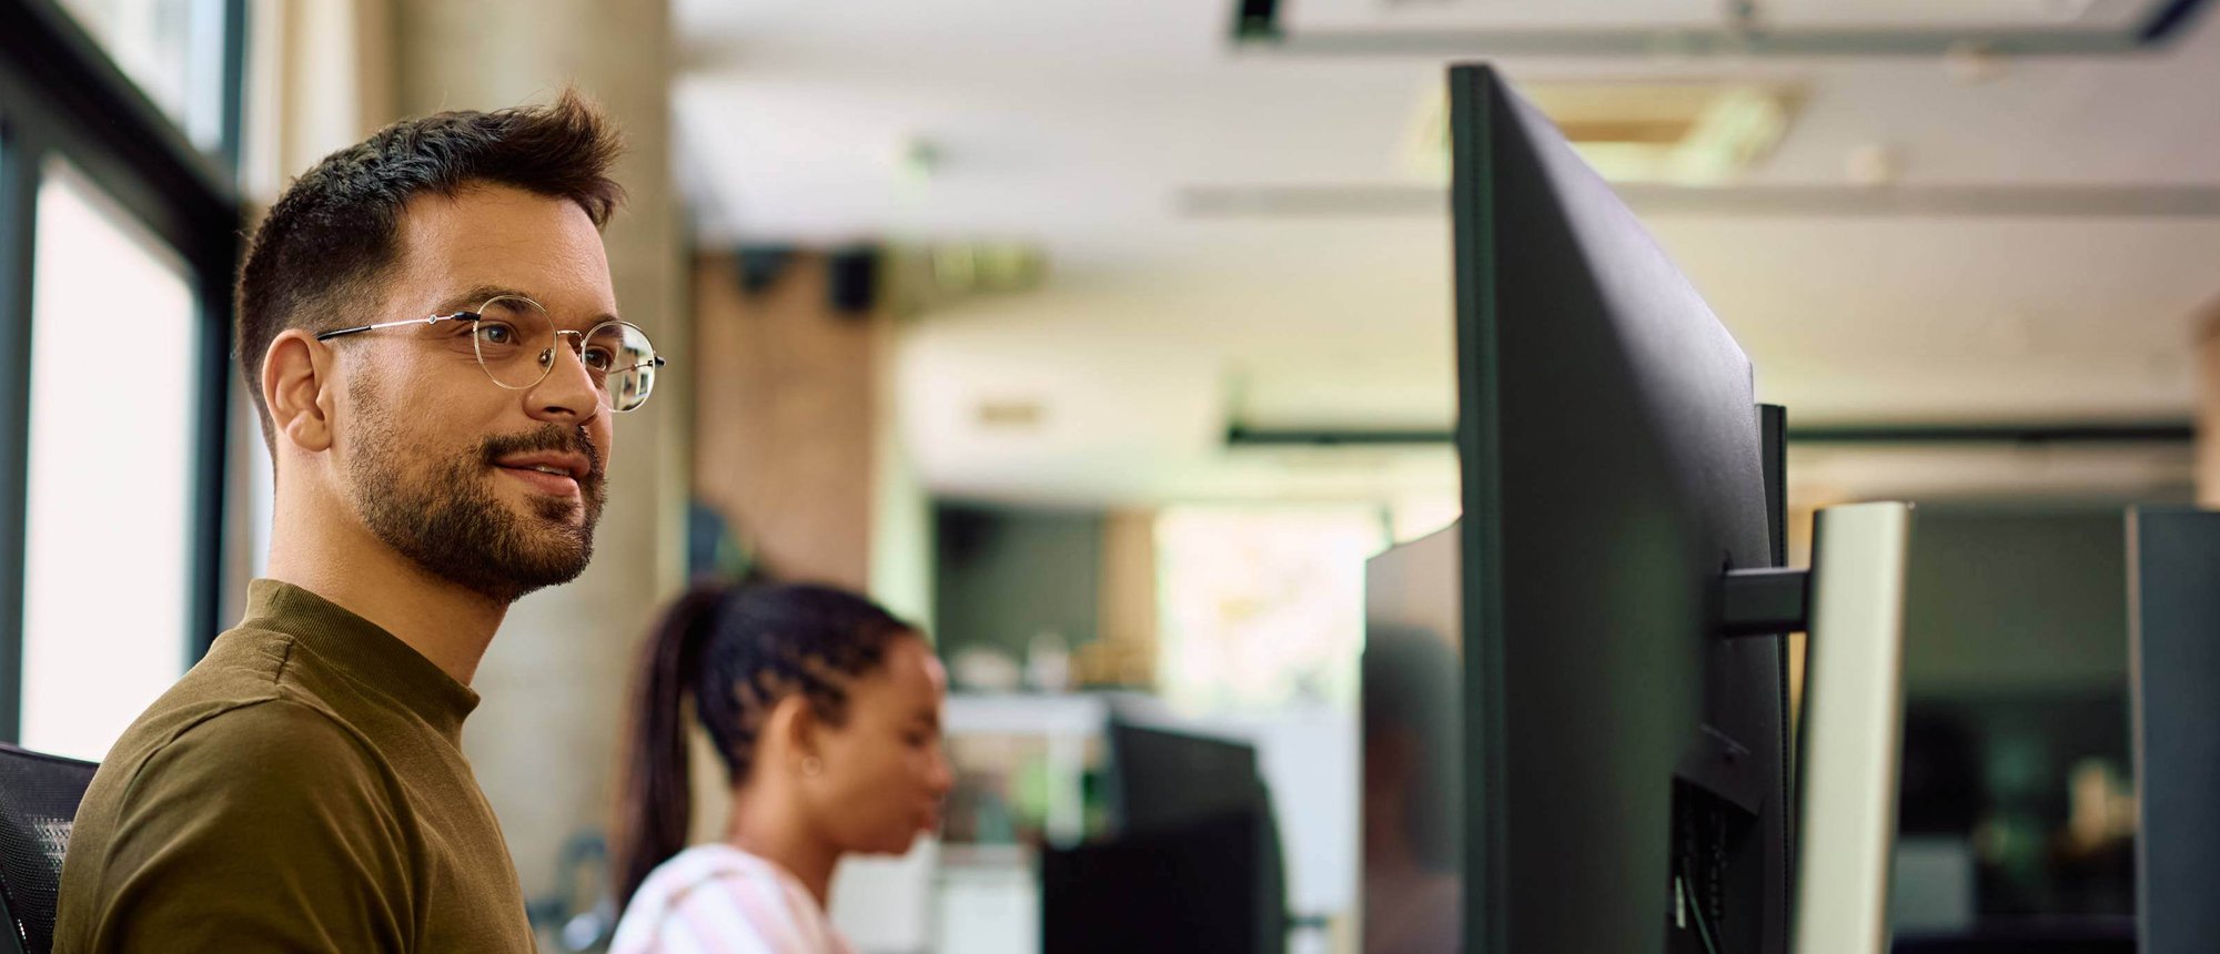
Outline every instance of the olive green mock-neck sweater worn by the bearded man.
<svg viewBox="0 0 2220 954">
<path fill-rule="evenodd" d="M 391 632 L 253 581 L 246 619 L 100 763 L 56 954 L 531 952 L 462 757 L 473 708 Z"/>
</svg>

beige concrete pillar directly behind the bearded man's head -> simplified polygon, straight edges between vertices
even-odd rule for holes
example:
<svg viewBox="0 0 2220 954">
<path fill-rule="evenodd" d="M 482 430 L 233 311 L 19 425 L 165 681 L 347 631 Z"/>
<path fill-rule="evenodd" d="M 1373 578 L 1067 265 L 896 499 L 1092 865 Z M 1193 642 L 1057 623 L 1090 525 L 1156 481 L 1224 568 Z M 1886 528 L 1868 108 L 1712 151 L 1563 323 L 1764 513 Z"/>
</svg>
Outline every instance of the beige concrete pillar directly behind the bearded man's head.
<svg viewBox="0 0 2220 954">
<path fill-rule="evenodd" d="M 615 118 L 630 195 L 608 224 L 624 317 L 673 362 L 657 397 L 615 428 L 608 508 L 586 575 L 526 597 L 477 670 L 464 730 L 526 896 L 557 887 L 557 852 L 606 832 L 633 650 L 682 586 L 690 342 L 670 186 L 668 0 L 389 0 L 395 109 L 500 109 L 575 84 Z"/>
</svg>

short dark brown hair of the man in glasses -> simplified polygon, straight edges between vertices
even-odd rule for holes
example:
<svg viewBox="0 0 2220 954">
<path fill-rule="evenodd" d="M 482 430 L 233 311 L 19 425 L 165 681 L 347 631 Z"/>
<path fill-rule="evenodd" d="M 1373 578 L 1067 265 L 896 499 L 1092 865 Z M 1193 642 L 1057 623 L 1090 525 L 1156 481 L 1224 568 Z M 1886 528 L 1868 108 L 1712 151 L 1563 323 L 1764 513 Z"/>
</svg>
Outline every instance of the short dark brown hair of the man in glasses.
<svg viewBox="0 0 2220 954">
<path fill-rule="evenodd" d="M 602 109 L 566 89 L 548 106 L 453 111 L 402 120 L 317 162 L 286 186 L 240 266 L 240 371 L 262 413 L 262 357 L 286 328 L 353 319 L 400 257 L 400 213 L 415 195 L 457 195 L 480 184 L 577 202 L 595 229 L 624 189 L 608 177 L 624 151 Z"/>
</svg>

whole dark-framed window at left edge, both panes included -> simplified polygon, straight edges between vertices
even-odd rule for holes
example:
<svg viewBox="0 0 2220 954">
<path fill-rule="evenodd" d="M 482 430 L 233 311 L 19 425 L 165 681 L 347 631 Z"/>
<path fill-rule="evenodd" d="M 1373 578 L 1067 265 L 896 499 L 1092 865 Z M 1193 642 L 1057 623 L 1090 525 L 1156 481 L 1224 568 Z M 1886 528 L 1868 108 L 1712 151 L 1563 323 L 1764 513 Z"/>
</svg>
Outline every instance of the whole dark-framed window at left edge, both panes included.
<svg viewBox="0 0 2220 954">
<path fill-rule="evenodd" d="M 0 741 L 107 754 L 222 628 L 242 11 L 0 2 Z"/>
</svg>

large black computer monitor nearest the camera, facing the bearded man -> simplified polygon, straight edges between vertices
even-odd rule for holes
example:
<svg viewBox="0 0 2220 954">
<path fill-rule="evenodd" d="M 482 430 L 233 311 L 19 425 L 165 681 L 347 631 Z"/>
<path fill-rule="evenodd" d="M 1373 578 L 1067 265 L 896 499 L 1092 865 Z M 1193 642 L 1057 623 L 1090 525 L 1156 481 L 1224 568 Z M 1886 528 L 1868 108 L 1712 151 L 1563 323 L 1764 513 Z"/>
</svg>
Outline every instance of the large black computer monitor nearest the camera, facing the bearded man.
<svg viewBox="0 0 2220 954">
<path fill-rule="evenodd" d="M 1465 950 L 1780 952 L 1787 672 L 1752 364 L 1490 67 L 1450 73 Z"/>
</svg>

